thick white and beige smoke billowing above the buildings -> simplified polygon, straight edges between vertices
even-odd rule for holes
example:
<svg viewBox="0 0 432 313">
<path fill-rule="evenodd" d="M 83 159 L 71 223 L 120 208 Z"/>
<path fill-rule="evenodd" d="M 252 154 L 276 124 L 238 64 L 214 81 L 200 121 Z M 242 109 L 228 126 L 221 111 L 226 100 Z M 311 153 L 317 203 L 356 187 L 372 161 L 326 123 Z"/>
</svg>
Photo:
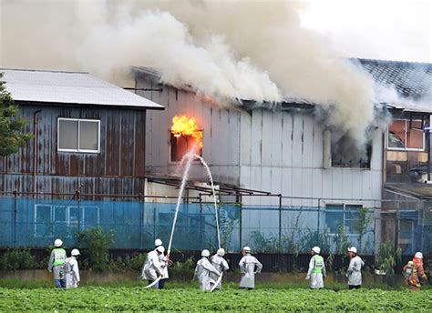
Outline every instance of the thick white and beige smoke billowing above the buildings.
<svg viewBox="0 0 432 313">
<path fill-rule="evenodd" d="M 281 1 L 1 2 L 2 66 L 90 70 L 129 66 L 221 99 L 306 98 L 357 144 L 373 120 L 373 82 Z M 221 101 L 223 102 L 223 101 Z"/>
</svg>

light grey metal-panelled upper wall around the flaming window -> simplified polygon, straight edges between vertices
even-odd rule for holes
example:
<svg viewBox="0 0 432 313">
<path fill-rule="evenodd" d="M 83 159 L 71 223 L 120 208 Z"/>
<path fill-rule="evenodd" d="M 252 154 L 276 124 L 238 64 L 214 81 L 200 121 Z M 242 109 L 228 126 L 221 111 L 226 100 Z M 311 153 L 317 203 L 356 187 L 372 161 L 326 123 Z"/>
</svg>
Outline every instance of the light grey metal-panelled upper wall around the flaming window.
<svg viewBox="0 0 432 313">
<path fill-rule="evenodd" d="M 204 129 L 203 157 L 216 181 L 308 198 L 284 199 L 284 206 L 323 205 L 311 198 L 381 198 L 383 142 L 379 132 L 373 140 L 370 169 L 324 168 L 324 126 L 310 112 L 227 110 L 203 102 L 192 92 L 160 86 L 143 77 L 138 78 L 137 86 L 162 88 L 141 95 L 166 107 L 148 115 L 146 151 L 152 173 L 175 173 L 169 162 L 170 120 L 184 114 L 195 116 Z M 192 178 L 205 178 L 199 166 L 191 173 Z M 277 197 L 248 197 L 244 204 L 278 205 L 278 201 Z M 376 201 L 361 204 L 374 207 Z"/>
</svg>

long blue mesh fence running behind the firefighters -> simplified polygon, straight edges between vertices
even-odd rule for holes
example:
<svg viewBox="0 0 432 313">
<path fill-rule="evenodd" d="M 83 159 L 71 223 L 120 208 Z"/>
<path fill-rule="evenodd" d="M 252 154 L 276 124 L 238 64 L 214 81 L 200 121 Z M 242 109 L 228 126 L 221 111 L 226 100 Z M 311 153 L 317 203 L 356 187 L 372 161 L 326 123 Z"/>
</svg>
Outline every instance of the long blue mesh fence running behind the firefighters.
<svg viewBox="0 0 432 313">
<path fill-rule="evenodd" d="M 153 247 L 157 237 L 169 241 L 176 207 L 169 203 L 173 198 L 77 196 L 16 192 L 0 196 L 0 247 L 47 247 L 57 237 L 67 247 L 76 247 L 77 233 L 91 227 L 112 232 L 113 248 L 147 249 Z M 387 205 L 364 208 L 283 206 L 283 201 L 279 206 L 220 203 L 221 246 L 231 252 L 248 245 L 255 252 L 292 254 L 307 252 L 314 246 L 320 246 L 324 253 L 345 252 L 347 246 L 356 246 L 362 254 L 374 254 L 380 241 L 395 240 L 399 245 L 407 240 L 406 254 L 416 249 L 432 252 L 431 223 L 426 218 L 429 213 L 414 203 L 396 211 L 387 210 Z M 415 222 L 409 224 L 406 220 Z M 217 247 L 215 222 L 212 203 L 200 197 L 184 197 L 173 249 Z M 388 225 L 394 225 L 397 231 L 387 229 Z"/>
</svg>

